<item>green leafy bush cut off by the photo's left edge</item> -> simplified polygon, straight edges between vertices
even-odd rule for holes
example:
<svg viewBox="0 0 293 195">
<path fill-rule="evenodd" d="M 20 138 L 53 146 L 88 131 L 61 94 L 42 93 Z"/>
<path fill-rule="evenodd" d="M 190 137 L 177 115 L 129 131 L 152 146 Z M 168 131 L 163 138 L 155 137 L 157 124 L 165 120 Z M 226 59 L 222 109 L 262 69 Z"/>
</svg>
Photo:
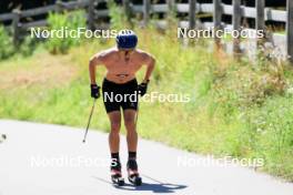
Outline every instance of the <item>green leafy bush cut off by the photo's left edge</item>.
<svg viewBox="0 0 293 195">
<path fill-rule="evenodd" d="M 13 41 L 3 25 L 0 25 L 0 60 L 13 54 Z"/>
</svg>

